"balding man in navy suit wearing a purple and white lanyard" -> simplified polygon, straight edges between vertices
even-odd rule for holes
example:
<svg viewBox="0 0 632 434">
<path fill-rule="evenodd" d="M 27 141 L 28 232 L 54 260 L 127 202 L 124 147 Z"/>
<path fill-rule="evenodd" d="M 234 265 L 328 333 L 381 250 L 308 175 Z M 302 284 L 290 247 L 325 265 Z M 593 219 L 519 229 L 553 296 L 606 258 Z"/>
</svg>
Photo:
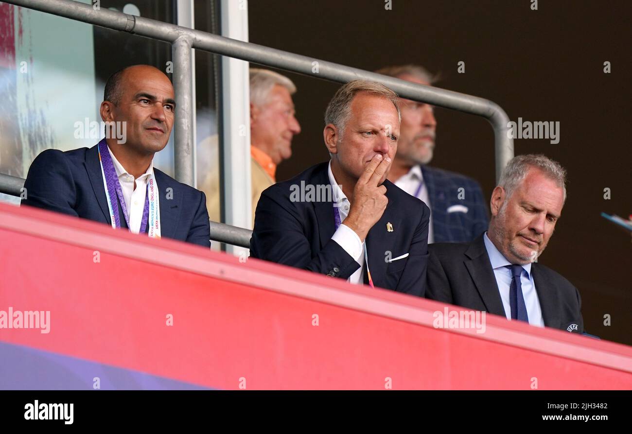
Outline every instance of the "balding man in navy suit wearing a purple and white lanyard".
<svg viewBox="0 0 632 434">
<path fill-rule="evenodd" d="M 210 247 L 204 193 L 153 165 L 169 140 L 175 106 L 173 86 L 159 69 L 135 65 L 114 73 L 100 107 L 106 138 L 92 148 L 39 154 L 21 203 Z"/>
</svg>

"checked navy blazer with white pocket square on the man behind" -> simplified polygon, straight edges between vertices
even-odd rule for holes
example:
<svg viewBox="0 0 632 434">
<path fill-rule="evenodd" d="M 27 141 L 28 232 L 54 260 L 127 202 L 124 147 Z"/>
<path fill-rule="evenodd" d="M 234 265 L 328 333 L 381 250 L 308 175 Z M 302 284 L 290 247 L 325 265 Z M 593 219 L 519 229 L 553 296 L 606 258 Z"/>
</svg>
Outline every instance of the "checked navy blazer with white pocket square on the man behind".
<svg viewBox="0 0 632 434">
<path fill-rule="evenodd" d="M 436 167 L 421 168 L 432 208 L 435 243 L 469 243 L 487 231 L 487 205 L 477 181 Z"/>
</svg>

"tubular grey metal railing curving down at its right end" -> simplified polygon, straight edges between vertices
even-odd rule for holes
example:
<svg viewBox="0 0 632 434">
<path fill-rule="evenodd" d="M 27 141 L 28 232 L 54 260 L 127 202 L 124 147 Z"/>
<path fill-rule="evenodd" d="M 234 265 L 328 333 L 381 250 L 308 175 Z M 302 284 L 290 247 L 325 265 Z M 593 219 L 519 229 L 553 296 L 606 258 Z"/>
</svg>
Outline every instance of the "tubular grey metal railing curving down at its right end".
<svg viewBox="0 0 632 434">
<path fill-rule="evenodd" d="M 4 3 L 171 43 L 174 60 L 173 87 L 176 95 L 174 167 L 175 177 L 182 183 L 193 185 L 194 173 L 193 143 L 191 143 L 191 125 L 193 124 L 191 48 L 339 83 L 358 79 L 379 81 L 397 92 L 400 97 L 482 116 L 492 124 L 494 129 L 496 180 L 500 178 L 503 167 L 514 155 L 513 140 L 507 135 L 509 118 L 498 104 L 487 99 L 437 87 L 418 85 L 363 69 L 229 39 L 171 23 L 127 15 L 110 9 L 95 10 L 90 4 L 72 0 L 4 0 Z M 5 184 L 6 182 L 7 184 Z M 5 190 L 11 189 L 15 189 L 15 179 L 6 179 L 6 176 L 0 177 L 0 191 L 6 192 Z M 19 196 L 19 189 L 17 191 Z M 224 228 L 225 226 L 226 228 Z M 235 229 L 239 230 L 236 231 Z M 247 248 L 250 243 L 250 233 L 251 231 L 247 229 L 216 223 L 212 226 L 211 238 Z"/>
</svg>

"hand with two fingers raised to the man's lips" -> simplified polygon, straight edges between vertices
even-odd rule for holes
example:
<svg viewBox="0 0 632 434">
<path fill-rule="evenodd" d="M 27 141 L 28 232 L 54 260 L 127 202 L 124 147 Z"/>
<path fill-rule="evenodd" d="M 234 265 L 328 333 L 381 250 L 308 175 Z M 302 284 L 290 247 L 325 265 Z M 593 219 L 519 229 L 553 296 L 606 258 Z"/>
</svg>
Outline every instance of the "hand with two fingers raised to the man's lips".
<svg viewBox="0 0 632 434">
<path fill-rule="evenodd" d="M 344 225 L 353 229 L 360 237 L 360 241 L 367 238 L 368 231 L 382 217 L 389 203 L 386 187 L 378 185 L 389 166 L 391 166 L 389 157 L 375 155 L 353 189 L 353 202 L 349 215 L 344 219 Z"/>
</svg>

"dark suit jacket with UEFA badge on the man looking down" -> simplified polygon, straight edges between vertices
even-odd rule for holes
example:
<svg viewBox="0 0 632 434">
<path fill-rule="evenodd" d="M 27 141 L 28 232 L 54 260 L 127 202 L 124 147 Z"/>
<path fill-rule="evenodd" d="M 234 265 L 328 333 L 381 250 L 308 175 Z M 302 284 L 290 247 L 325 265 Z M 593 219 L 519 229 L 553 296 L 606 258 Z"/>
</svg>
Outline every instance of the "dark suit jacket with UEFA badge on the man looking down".
<svg viewBox="0 0 632 434">
<path fill-rule="evenodd" d="M 471 243 L 430 244 L 428 250 L 427 298 L 506 316 L 482 235 Z M 544 325 L 583 332 L 577 288 L 541 263 L 532 263 L 531 273 Z"/>
</svg>

